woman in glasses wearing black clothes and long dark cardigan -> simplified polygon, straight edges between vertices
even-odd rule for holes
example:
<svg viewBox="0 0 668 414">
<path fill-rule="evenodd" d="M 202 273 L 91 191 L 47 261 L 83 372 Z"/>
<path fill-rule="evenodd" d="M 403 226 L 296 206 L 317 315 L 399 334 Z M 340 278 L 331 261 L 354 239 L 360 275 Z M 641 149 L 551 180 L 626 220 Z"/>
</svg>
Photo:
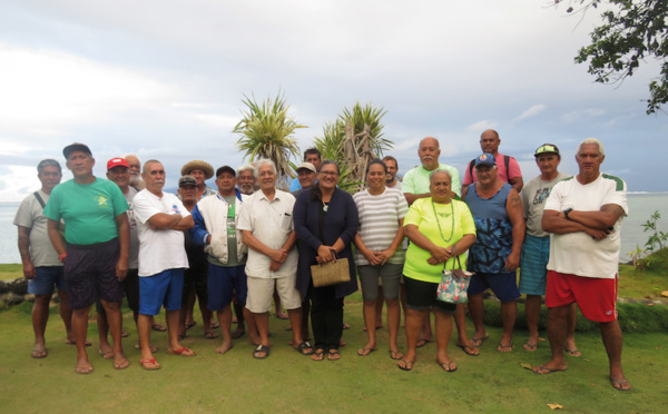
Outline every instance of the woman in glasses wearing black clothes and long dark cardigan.
<svg viewBox="0 0 668 414">
<path fill-rule="evenodd" d="M 343 334 L 343 298 L 357 290 L 351 241 L 357 234 L 357 208 L 353 197 L 336 188 L 338 165 L 325 160 L 318 181 L 299 193 L 293 211 L 295 231 L 299 237 L 297 289 L 302 297 L 311 297 L 311 326 L 314 361 L 341 358 L 338 346 Z M 325 287 L 313 287 L 311 266 L 340 258 L 348 259 L 351 280 Z"/>
</svg>

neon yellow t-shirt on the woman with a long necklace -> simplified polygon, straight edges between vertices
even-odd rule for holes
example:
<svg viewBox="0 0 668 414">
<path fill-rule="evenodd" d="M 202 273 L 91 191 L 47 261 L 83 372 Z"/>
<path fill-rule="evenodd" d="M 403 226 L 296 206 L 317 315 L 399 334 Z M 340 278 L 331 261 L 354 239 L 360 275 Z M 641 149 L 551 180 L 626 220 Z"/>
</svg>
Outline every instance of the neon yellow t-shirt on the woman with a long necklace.
<svg viewBox="0 0 668 414">
<path fill-rule="evenodd" d="M 438 214 L 438 221 L 434 209 Z M 411 205 L 409 214 L 404 218 L 404 227 L 407 225 L 418 226 L 420 233 L 441 247 L 450 247 L 461 240 L 464 235 L 475 234 L 475 223 L 469 207 L 465 203 L 458 200 L 452 200 L 450 204 L 432 204 L 431 197 L 420 198 Z M 446 239 L 449 241 L 445 241 Z M 429 250 L 411 243 L 406 250 L 404 275 L 416 280 L 440 283 L 443 264 L 430 265 L 426 263 L 430 257 Z M 461 254 L 460 262 L 464 268 L 466 267 L 465 260 L 466 254 Z M 448 260 L 446 268 L 452 269 L 453 265 L 454 257 Z"/>
</svg>

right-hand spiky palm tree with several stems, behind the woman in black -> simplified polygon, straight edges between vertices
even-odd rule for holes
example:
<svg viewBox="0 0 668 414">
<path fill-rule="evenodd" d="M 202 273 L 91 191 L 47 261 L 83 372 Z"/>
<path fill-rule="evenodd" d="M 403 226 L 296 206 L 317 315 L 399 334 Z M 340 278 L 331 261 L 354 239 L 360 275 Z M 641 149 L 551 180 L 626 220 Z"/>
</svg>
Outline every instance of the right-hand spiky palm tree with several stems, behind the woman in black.
<svg viewBox="0 0 668 414">
<path fill-rule="evenodd" d="M 371 102 L 356 102 L 352 109 L 344 108 L 334 124 L 325 124 L 323 136 L 316 137 L 323 159 L 334 159 L 341 167 L 340 188 L 354 193 L 364 187 L 369 162 L 392 148 L 392 141 L 383 138 L 381 119 L 386 112 Z"/>
</svg>

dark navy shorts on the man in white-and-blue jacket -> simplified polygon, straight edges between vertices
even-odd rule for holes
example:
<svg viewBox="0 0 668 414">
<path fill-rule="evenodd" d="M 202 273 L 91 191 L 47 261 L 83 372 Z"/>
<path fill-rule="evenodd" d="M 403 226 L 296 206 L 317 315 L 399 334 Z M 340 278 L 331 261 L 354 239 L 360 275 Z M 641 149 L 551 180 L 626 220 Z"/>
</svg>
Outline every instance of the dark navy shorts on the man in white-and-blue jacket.
<svg viewBox="0 0 668 414">
<path fill-rule="evenodd" d="M 236 292 L 237 303 L 246 306 L 248 283 L 245 272 L 246 266 L 217 266 L 209 264 L 208 268 L 208 303 L 210 310 L 223 310 L 232 302 L 232 294 Z"/>
</svg>

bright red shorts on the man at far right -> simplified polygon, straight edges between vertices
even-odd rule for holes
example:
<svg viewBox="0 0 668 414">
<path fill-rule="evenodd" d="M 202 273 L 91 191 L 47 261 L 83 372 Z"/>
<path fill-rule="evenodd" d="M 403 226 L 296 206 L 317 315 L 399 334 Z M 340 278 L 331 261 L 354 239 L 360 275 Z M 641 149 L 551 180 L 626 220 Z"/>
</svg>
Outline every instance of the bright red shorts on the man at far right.
<svg viewBox="0 0 668 414">
<path fill-rule="evenodd" d="M 546 306 L 566 306 L 573 302 L 590 321 L 616 321 L 617 275 L 613 279 L 601 279 L 549 270 Z"/>
</svg>

